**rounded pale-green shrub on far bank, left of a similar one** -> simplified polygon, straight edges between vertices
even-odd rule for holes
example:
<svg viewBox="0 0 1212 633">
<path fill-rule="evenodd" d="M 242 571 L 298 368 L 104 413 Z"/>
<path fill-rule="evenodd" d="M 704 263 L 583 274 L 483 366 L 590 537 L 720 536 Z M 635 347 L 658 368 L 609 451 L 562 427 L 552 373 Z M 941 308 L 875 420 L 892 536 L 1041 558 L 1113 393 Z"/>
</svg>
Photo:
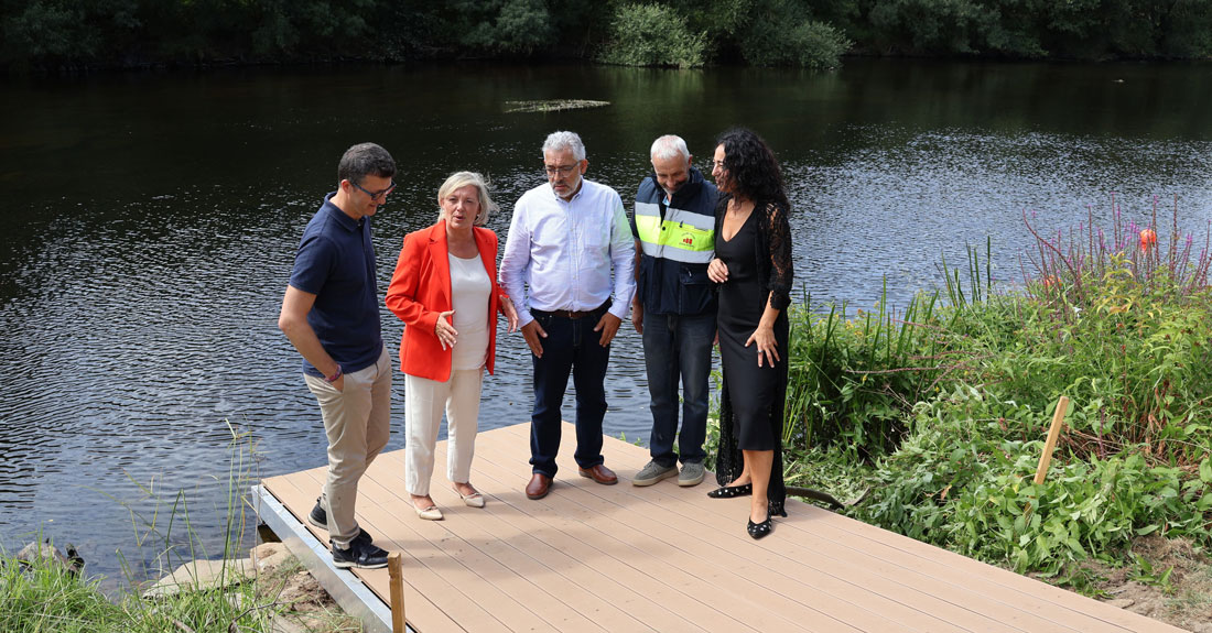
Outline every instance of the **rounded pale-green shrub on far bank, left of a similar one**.
<svg viewBox="0 0 1212 633">
<path fill-rule="evenodd" d="M 622 5 L 598 54 L 607 64 L 698 68 L 707 62 L 707 36 L 668 6 Z"/>
</svg>

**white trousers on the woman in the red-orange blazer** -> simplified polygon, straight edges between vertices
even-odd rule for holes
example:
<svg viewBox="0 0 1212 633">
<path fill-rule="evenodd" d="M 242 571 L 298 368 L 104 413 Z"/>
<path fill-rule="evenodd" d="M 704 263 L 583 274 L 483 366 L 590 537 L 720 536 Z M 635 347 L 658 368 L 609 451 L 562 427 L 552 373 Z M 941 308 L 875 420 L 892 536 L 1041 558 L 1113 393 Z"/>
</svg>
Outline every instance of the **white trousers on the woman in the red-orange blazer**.
<svg viewBox="0 0 1212 633">
<path fill-rule="evenodd" d="M 471 477 L 475 433 L 480 424 L 480 386 L 484 368 L 451 372 L 450 380 L 439 382 L 413 375 L 404 376 L 405 458 L 404 487 L 408 494 L 429 494 L 434 474 L 434 445 L 438 428 L 446 413 L 446 477 L 467 483 Z"/>
</svg>

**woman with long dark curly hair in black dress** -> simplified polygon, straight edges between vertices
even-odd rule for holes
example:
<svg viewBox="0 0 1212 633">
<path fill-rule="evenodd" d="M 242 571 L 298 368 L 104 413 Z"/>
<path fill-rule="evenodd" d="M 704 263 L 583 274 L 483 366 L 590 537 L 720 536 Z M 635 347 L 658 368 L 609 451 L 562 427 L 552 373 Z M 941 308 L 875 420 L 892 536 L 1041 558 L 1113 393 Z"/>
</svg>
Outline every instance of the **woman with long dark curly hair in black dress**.
<svg viewBox="0 0 1212 633">
<path fill-rule="evenodd" d="M 783 403 L 787 399 L 787 306 L 791 288 L 790 202 L 774 154 L 749 130 L 725 132 L 711 175 L 720 188 L 715 259 L 724 366 L 720 454 L 711 497 L 753 495 L 749 536 L 771 533 L 783 501 Z"/>
</svg>

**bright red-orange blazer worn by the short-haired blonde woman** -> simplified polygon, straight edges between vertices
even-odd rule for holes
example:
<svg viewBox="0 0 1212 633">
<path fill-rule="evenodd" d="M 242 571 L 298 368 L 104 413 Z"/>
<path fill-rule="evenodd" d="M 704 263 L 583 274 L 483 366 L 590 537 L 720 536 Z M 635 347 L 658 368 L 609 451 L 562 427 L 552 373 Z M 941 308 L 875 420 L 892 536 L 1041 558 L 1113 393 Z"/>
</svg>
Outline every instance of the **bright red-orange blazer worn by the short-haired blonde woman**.
<svg viewBox="0 0 1212 633">
<path fill-rule="evenodd" d="M 488 356 L 487 368 L 492 373 L 497 351 L 497 312 L 509 297 L 497 283 L 497 234 L 479 226 L 471 228 L 475 247 L 480 251 L 484 270 L 492 281 L 488 297 Z M 400 341 L 400 369 L 405 374 L 446 381 L 451 376 L 450 347 L 442 350 L 434 327 L 438 315 L 452 309 L 451 269 L 446 246 L 446 220 L 413 231 L 404 237 L 404 248 L 387 289 L 387 307 L 404 321 L 404 339 Z"/>
</svg>

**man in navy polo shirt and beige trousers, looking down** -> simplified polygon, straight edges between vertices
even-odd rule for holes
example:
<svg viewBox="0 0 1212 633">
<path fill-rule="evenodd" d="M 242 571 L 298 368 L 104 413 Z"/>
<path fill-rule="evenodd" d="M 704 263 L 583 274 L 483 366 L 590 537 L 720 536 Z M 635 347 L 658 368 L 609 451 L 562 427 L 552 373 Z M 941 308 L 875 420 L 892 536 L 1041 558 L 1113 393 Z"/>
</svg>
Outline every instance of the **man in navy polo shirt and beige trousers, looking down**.
<svg viewBox="0 0 1212 633">
<path fill-rule="evenodd" d="M 303 355 L 303 378 L 320 403 L 328 477 L 308 519 L 328 530 L 338 568 L 387 566 L 387 552 L 358 526 L 358 480 L 387 445 L 391 361 L 379 329 L 371 217 L 395 189 L 395 161 L 354 145 L 337 167 L 339 189 L 303 231 L 278 327 Z"/>
</svg>

